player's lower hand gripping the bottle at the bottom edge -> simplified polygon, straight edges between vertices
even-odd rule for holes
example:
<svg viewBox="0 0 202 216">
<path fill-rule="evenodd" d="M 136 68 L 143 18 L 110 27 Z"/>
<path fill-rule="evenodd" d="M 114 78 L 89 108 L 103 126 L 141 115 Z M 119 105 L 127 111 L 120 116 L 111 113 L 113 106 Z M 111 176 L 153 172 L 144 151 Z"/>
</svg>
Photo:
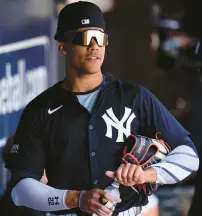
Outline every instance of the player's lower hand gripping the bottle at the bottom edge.
<svg viewBox="0 0 202 216">
<path fill-rule="evenodd" d="M 86 191 L 81 199 L 81 209 L 87 213 L 95 213 L 98 216 L 112 215 L 113 206 L 111 208 L 105 207 L 99 202 L 99 199 L 102 198 L 106 201 L 109 201 L 113 205 L 113 198 L 106 193 L 104 190 L 93 189 Z M 99 211 L 101 210 L 101 211 Z"/>
</svg>

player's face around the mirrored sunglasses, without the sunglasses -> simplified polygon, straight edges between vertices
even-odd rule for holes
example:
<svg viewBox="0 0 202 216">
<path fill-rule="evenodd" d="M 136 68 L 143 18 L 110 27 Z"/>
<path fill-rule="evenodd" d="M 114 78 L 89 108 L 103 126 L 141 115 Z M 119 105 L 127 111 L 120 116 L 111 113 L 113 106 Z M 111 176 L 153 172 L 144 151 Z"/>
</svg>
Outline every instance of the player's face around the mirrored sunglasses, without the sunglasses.
<svg viewBox="0 0 202 216">
<path fill-rule="evenodd" d="M 89 29 L 97 29 L 103 31 L 100 28 L 80 28 L 77 32 L 85 31 Z M 94 74 L 101 72 L 101 65 L 104 61 L 105 47 L 100 47 L 96 40 L 92 38 L 89 46 L 75 45 L 65 42 L 63 49 L 66 51 L 66 61 L 68 66 L 74 68 L 78 73 L 82 74 Z"/>
</svg>

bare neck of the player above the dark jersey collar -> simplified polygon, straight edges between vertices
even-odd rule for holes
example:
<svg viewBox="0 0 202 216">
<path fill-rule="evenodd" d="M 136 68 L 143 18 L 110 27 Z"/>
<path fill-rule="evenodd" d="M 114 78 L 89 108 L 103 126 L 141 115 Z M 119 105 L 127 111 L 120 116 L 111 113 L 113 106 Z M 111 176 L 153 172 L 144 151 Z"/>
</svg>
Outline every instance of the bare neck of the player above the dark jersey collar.
<svg viewBox="0 0 202 216">
<path fill-rule="evenodd" d="M 71 92 L 88 92 L 100 85 L 102 80 L 101 71 L 94 74 L 68 73 L 62 86 Z"/>
</svg>

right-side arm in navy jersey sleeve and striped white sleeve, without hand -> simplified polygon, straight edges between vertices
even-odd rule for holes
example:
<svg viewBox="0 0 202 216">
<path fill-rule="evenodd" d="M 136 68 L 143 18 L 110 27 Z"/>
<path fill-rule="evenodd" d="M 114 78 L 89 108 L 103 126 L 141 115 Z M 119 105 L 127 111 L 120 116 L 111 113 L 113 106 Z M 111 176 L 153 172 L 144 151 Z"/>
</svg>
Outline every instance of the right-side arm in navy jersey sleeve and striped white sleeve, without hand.
<svg viewBox="0 0 202 216">
<path fill-rule="evenodd" d="M 160 132 L 161 138 L 172 149 L 161 163 L 152 165 L 149 170 L 155 169 L 159 183 L 174 184 L 182 181 L 196 171 L 199 166 L 197 150 L 189 138 L 189 132 L 179 124 L 151 92 L 143 88 L 142 95 L 144 98 L 142 106 L 146 110 L 144 113 L 146 136 L 152 137 L 156 132 Z M 150 173 L 149 170 L 148 173 Z M 155 180 L 155 178 L 150 180 Z"/>
</svg>

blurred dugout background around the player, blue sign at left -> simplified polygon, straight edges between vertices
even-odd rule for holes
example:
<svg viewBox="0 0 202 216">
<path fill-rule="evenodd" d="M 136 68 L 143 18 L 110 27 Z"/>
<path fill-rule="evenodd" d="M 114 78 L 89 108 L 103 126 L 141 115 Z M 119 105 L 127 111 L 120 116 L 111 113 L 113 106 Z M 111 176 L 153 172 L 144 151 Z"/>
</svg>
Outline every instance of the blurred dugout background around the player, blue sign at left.
<svg viewBox="0 0 202 216">
<path fill-rule="evenodd" d="M 9 179 L 2 152 L 23 108 L 65 76 L 64 59 L 53 37 L 58 13 L 72 2 L 75 0 L 0 0 L 0 196 Z M 192 133 L 200 151 L 199 1 L 91 2 L 104 12 L 109 34 L 103 72 L 150 89 Z M 150 197 L 144 216 L 186 216 L 194 181 L 192 177 L 179 185 L 161 187 Z"/>
</svg>

